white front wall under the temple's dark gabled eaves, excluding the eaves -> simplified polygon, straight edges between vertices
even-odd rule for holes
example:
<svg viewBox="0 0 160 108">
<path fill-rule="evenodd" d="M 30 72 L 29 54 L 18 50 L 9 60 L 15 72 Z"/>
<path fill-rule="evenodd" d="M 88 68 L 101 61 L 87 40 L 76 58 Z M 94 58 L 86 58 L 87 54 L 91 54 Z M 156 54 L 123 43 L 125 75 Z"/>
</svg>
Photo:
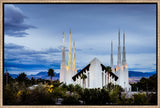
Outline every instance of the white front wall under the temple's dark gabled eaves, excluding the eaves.
<svg viewBox="0 0 160 108">
<path fill-rule="evenodd" d="M 108 80 L 108 72 L 105 72 L 105 70 L 102 71 L 101 62 L 97 58 L 90 62 L 89 71 L 84 71 L 85 72 L 83 72 L 83 74 L 87 76 L 86 88 L 102 88 L 103 86 L 108 85 L 109 82 L 116 84 L 115 77 L 111 76 L 110 74 Z M 81 79 L 80 76 L 76 78 L 75 82 L 76 84 L 79 84 L 81 87 L 83 87 L 83 79 Z"/>
</svg>

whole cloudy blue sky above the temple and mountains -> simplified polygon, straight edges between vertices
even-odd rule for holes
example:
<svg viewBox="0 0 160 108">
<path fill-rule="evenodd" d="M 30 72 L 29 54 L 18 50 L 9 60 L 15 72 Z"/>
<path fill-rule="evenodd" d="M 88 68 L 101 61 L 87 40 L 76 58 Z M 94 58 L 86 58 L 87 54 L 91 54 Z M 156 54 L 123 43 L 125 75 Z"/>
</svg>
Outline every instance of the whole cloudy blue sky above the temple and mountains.
<svg viewBox="0 0 160 108">
<path fill-rule="evenodd" d="M 95 57 L 109 66 L 111 40 L 116 66 L 120 29 L 128 70 L 156 72 L 156 4 L 4 4 L 4 71 L 59 73 L 70 29 L 77 69 Z"/>
</svg>

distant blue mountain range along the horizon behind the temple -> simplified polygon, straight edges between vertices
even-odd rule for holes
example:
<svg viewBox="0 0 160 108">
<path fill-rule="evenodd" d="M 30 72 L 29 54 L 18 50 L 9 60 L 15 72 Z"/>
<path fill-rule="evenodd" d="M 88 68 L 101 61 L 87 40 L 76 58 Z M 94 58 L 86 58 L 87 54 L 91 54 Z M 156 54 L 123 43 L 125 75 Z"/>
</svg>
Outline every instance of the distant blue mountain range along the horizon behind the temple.
<svg viewBox="0 0 160 108">
<path fill-rule="evenodd" d="M 81 70 L 77 70 L 77 73 L 80 72 Z M 5 73 L 4 73 L 5 74 Z M 156 72 L 138 72 L 138 71 L 129 71 L 129 78 L 132 77 L 137 77 L 137 78 L 141 78 L 141 77 L 150 77 L 153 74 L 156 74 Z M 18 74 L 9 74 L 12 78 L 16 78 L 18 76 Z M 32 77 L 35 79 L 38 78 L 42 78 L 42 79 L 50 79 L 50 76 L 48 76 L 47 71 L 42 71 L 39 72 L 37 74 L 32 74 L 32 75 L 27 75 L 27 77 L 29 79 L 31 79 Z M 59 79 L 59 73 L 55 72 L 55 76 L 53 77 L 54 80 Z"/>
</svg>

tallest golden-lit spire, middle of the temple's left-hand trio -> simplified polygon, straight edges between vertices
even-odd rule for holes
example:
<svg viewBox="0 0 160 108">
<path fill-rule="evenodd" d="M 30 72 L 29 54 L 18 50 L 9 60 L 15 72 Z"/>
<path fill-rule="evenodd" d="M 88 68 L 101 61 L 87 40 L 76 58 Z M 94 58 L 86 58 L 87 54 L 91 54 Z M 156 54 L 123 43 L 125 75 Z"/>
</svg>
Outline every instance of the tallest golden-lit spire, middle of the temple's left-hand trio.
<svg viewBox="0 0 160 108">
<path fill-rule="evenodd" d="M 68 69 L 71 69 L 72 66 L 72 46 L 71 46 L 71 29 L 69 33 L 69 59 L 68 59 Z"/>
</svg>

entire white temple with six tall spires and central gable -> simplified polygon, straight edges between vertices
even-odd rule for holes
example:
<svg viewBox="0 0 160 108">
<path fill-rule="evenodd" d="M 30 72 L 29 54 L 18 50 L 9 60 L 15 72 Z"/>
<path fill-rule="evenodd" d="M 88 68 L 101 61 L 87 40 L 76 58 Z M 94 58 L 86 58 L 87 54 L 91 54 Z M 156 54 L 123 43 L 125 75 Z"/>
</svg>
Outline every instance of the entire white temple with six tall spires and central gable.
<svg viewBox="0 0 160 108">
<path fill-rule="evenodd" d="M 62 63 L 60 69 L 60 82 L 66 84 L 79 84 L 84 88 L 102 88 L 103 86 L 113 83 L 120 85 L 125 91 L 131 91 L 131 86 L 128 79 L 128 68 L 126 62 L 125 51 L 125 33 L 123 33 L 123 55 L 121 61 L 121 46 L 120 46 L 120 30 L 118 32 L 118 60 L 116 69 L 113 65 L 113 42 L 111 41 L 111 61 L 110 67 L 112 72 L 108 72 L 106 67 L 97 59 L 94 58 L 89 64 L 77 73 L 75 66 L 75 42 L 73 43 L 73 54 L 71 47 L 71 31 L 69 34 L 69 59 L 68 66 L 65 61 L 64 47 L 64 32 L 63 32 L 63 48 L 62 48 Z M 81 76 L 85 74 L 85 86 Z"/>
</svg>

